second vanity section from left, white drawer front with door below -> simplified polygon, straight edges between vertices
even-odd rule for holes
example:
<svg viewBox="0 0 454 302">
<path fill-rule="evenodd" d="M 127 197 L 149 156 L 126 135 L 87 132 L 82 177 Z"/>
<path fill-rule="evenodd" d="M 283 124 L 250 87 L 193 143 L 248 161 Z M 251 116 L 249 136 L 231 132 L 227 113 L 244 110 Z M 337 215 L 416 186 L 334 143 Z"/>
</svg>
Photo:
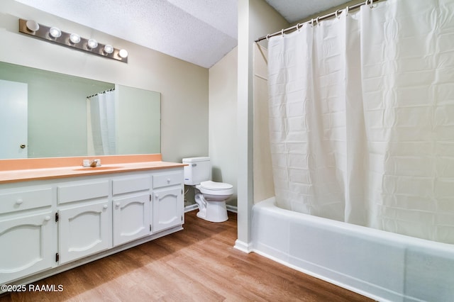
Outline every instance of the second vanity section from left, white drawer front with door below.
<svg viewBox="0 0 454 302">
<path fill-rule="evenodd" d="M 59 264 L 112 247 L 109 179 L 61 183 L 57 193 Z"/>
</svg>

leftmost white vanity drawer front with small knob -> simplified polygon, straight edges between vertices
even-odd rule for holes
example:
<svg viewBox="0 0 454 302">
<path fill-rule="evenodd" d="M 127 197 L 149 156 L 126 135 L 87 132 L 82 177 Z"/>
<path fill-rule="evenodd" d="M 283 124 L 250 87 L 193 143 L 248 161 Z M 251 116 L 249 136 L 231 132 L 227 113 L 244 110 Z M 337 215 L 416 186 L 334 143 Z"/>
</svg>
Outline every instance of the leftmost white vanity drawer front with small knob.
<svg viewBox="0 0 454 302">
<path fill-rule="evenodd" d="M 0 194 L 0 214 L 40 208 L 52 204 L 52 189 L 31 189 Z"/>
</svg>

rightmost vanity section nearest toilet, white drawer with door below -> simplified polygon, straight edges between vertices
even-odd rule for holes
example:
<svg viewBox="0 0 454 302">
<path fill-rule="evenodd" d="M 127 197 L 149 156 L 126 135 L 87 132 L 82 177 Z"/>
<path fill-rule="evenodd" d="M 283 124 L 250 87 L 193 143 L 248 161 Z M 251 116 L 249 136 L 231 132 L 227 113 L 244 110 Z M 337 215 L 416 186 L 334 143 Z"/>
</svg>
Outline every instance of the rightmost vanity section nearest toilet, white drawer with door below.
<svg viewBox="0 0 454 302">
<path fill-rule="evenodd" d="M 183 172 L 153 174 L 153 233 L 184 223 Z"/>
</svg>

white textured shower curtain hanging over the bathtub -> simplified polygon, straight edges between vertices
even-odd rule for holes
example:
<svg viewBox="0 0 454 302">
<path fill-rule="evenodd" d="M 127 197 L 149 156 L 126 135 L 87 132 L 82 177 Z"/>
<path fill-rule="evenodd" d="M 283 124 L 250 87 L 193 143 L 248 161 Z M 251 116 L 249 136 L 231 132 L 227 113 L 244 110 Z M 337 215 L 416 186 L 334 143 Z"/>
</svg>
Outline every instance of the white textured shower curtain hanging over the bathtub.
<svg viewBox="0 0 454 302">
<path fill-rule="evenodd" d="M 270 38 L 268 92 L 279 206 L 454 243 L 454 1 Z"/>
</svg>

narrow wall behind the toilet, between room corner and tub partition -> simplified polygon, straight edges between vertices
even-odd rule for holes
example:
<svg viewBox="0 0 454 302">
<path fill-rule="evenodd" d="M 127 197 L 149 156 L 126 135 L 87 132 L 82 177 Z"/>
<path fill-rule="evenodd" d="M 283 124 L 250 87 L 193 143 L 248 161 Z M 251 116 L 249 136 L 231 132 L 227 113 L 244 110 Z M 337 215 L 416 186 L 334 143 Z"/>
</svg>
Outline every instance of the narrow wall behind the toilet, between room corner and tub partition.
<svg viewBox="0 0 454 302">
<path fill-rule="evenodd" d="M 235 47 L 209 69 L 209 157 L 214 181 L 233 184 L 227 204 L 236 206 L 237 62 Z"/>
</svg>

